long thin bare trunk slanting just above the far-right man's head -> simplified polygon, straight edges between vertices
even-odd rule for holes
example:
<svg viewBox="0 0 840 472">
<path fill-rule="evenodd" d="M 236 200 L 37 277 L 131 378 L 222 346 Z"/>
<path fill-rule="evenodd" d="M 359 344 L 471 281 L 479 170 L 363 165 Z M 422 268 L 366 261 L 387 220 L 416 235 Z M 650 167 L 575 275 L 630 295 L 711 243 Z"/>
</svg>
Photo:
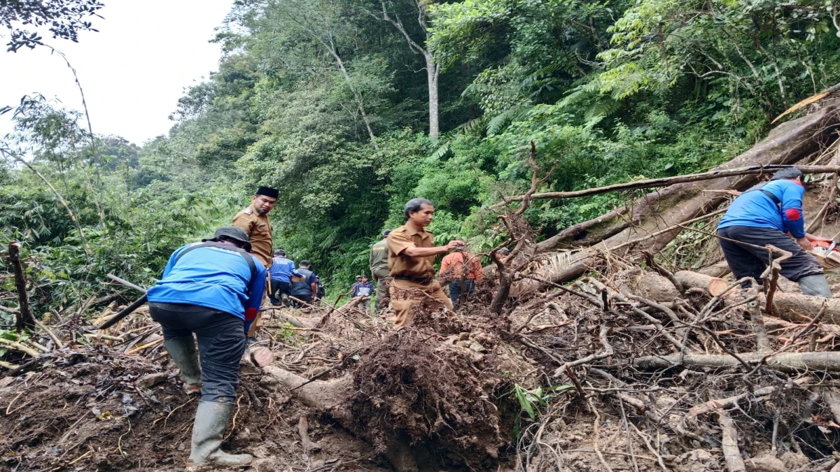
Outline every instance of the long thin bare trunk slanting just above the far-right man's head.
<svg viewBox="0 0 840 472">
<path fill-rule="evenodd" d="M 501 207 L 510 202 L 522 202 L 528 200 L 545 200 L 545 199 L 564 199 L 576 197 L 590 197 L 592 195 L 600 195 L 601 193 L 608 193 L 611 191 L 623 190 L 639 190 L 643 188 L 653 188 L 657 186 L 671 186 L 674 184 L 696 182 L 696 181 L 710 181 L 712 179 L 719 179 L 722 177 L 731 176 L 746 176 L 748 174 L 764 174 L 772 173 L 776 170 L 796 168 L 802 171 L 803 174 L 827 174 L 830 172 L 840 172 L 840 165 L 750 165 L 748 167 L 738 167 L 736 169 L 722 169 L 709 170 L 699 174 L 686 174 L 685 176 L 662 177 L 659 179 L 645 179 L 643 181 L 624 182 L 614 184 L 611 186 L 598 186 L 585 190 L 576 191 L 546 191 L 542 193 L 530 193 L 525 195 L 516 195 L 513 197 L 502 197 L 501 202 L 492 205 L 491 208 Z"/>
</svg>

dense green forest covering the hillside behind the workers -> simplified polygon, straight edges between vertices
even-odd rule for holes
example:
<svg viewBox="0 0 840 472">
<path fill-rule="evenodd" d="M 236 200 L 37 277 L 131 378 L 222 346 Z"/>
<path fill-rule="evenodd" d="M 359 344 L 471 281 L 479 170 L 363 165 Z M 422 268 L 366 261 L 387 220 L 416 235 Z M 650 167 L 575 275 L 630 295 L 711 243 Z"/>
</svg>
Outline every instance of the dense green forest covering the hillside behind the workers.
<svg viewBox="0 0 840 472">
<path fill-rule="evenodd" d="M 218 71 L 181 97 L 166 136 L 92 135 L 84 113 L 38 96 L 0 110 L 16 127 L 0 142 L 0 233 L 24 243 L 34 302 L 59 307 L 111 271 L 149 283 L 172 249 L 275 186 L 276 247 L 344 288 L 411 197 L 435 203 L 440 240 L 504 240 L 486 208 L 528 188 L 531 141 L 545 191 L 737 155 L 840 81 L 837 8 L 236 0 Z M 544 238 L 628 197 L 546 200 L 527 216 Z"/>
</svg>

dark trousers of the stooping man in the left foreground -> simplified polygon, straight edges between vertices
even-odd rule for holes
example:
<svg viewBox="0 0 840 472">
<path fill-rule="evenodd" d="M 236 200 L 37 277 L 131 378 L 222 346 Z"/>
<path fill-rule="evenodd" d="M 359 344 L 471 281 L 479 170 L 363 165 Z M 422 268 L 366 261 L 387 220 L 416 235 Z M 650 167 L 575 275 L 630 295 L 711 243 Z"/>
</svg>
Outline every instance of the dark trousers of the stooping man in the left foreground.
<svg viewBox="0 0 840 472">
<path fill-rule="evenodd" d="M 181 303 L 149 303 L 163 338 L 196 334 L 202 365 L 202 401 L 235 403 L 239 360 L 245 352 L 244 321 L 226 312 Z"/>
</svg>

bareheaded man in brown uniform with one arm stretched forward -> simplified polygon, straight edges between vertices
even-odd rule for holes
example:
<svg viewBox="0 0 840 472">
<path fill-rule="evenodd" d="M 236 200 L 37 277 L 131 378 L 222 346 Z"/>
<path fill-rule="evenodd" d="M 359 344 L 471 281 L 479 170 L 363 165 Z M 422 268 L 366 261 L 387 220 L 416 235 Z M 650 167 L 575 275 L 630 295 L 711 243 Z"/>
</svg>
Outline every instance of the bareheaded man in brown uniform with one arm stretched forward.
<svg viewBox="0 0 840 472">
<path fill-rule="evenodd" d="M 440 283 L 434 280 L 434 257 L 464 245 L 463 241 L 449 241 L 434 246 L 434 236 L 426 231 L 432 223 L 434 206 L 424 198 L 412 198 L 406 203 L 407 222 L 388 235 L 388 267 L 391 269 L 391 305 L 396 312 L 396 327 L 411 321 L 411 308 L 426 295 L 452 309 Z M 424 293 L 426 295 L 424 295 Z"/>
</svg>

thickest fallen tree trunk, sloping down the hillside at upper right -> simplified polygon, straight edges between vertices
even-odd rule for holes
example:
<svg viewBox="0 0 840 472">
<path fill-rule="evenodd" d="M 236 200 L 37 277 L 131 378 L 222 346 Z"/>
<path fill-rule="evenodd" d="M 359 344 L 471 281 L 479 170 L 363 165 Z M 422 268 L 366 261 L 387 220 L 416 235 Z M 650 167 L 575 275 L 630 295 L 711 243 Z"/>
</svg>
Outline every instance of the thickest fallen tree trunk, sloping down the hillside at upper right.
<svg viewBox="0 0 840 472">
<path fill-rule="evenodd" d="M 717 166 L 711 172 L 732 171 L 753 165 L 794 164 L 820 149 L 822 144 L 835 139 L 833 132 L 840 124 L 838 110 L 840 110 L 840 101 L 835 100 L 827 102 L 824 108 L 815 113 L 782 123 L 759 144 L 726 164 Z M 680 224 L 711 212 L 725 202 L 726 191 L 744 191 L 757 183 L 759 183 L 757 174 L 727 175 L 708 181 L 679 183 L 648 193 L 633 203 L 633 211 L 629 215 L 622 217 L 616 214 L 615 218 L 606 219 L 606 221 L 596 218 L 598 220 L 596 223 L 581 223 L 580 226 L 585 227 L 588 233 L 600 234 L 612 234 L 613 228 L 617 225 L 627 226 L 621 232 L 603 239 L 593 248 L 621 249 L 617 251 L 620 256 L 639 254 L 641 251 L 656 254 L 682 231 Z M 627 225 L 627 221 L 633 224 Z M 570 234 L 574 238 L 581 237 L 580 231 L 572 231 Z M 649 236 L 653 234 L 655 235 Z M 585 237 L 593 239 L 591 234 Z M 562 244 L 570 245 L 570 243 L 570 239 L 551 238 L 535 244 L 533 254 L 548 253 Z M 595 255 L 594 252 L 585 254 L 569 265 L 545 274 L 543 278 L 553 282 L 575 279 L 586 271 L 596 268 Z M 519 281 L 517 285 L 521 283 L 522 281 Z M 538 286 L 529 285 L 528 288 L 517 290 L 517 294 L 528 293 L 533 291 L 533 288 L 538 288 Z"/>
</svg>

